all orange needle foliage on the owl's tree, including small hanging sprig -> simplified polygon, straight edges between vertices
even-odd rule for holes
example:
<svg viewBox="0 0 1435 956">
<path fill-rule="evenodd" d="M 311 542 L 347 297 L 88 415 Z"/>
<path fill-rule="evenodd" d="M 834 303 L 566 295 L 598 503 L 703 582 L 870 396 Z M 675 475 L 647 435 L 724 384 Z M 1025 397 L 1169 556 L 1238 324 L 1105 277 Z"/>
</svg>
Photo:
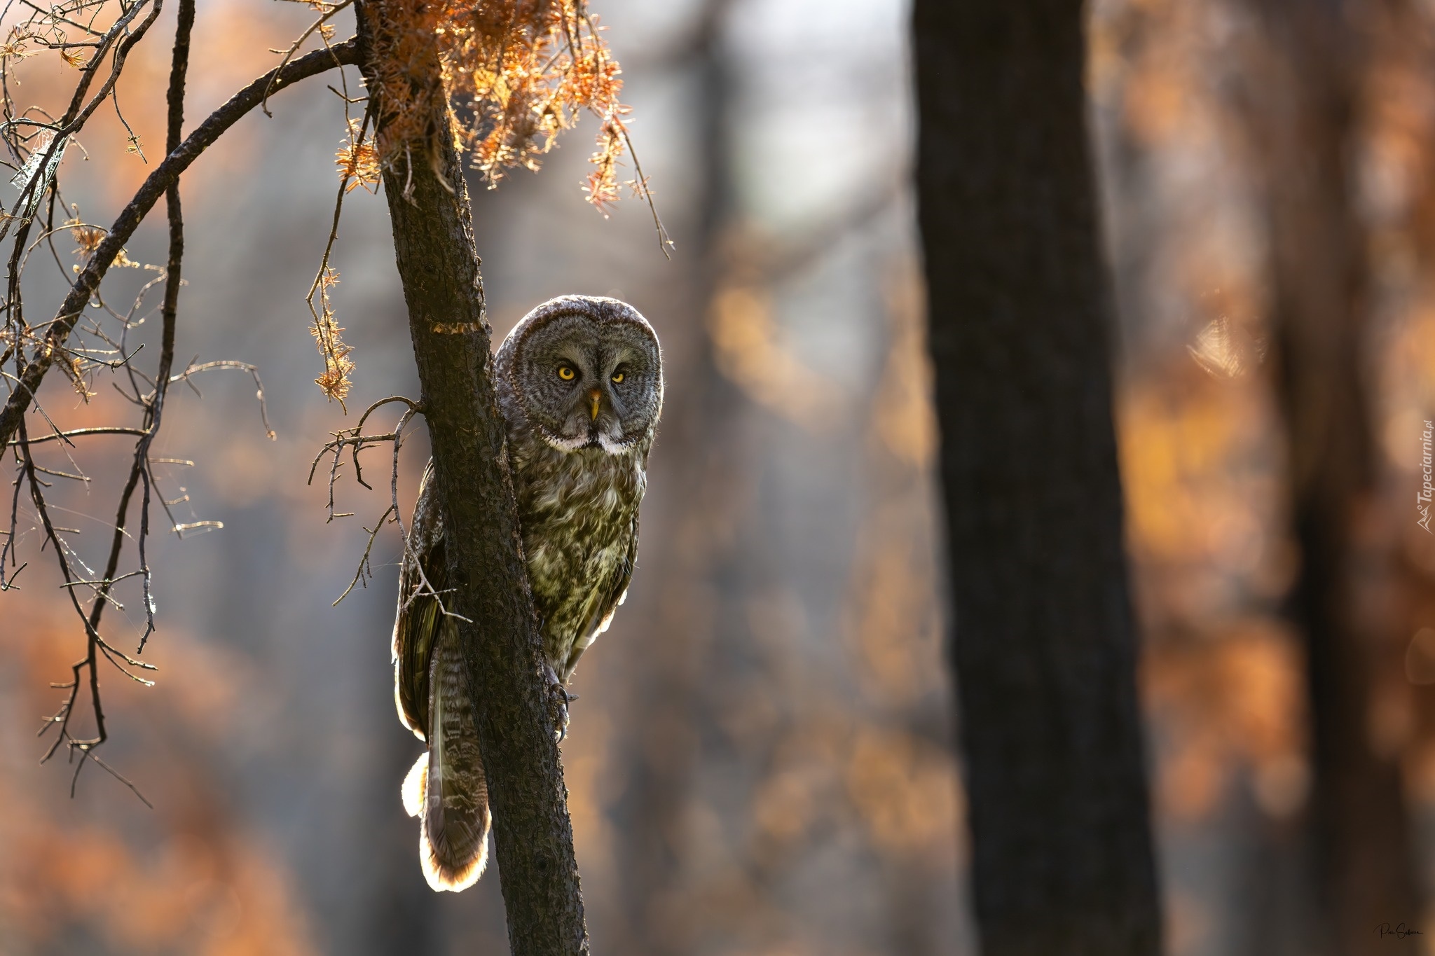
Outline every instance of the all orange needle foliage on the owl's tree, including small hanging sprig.
<svg viewBox="0 0 1435 956">
<path fill-rule="evenodd" d="M 343 4 L 313 6 L 323 20 Z M 620 159 L 631 150 L 623 122 L 629 107 L 618 102 L 621 69 L 583 0 L 387 0 L 372 10 L 370 42 L 382 56 L 373 60 L 377 82 L 369 107 L 363 119 L 347 119 L 349 135 L 334 159 L 340 202 L 359 186 L 376 192 L 383 169 L 408 183 L 416 153 L 446 182 L 435 143 L 445 135 L 492 189 L 511 168 L 537 171 L 558 133 L 588 112 L 600 129 L 583 189 L 606 215 L 618 199 Z M 641 171 L 627 185 L 651 206 Z M 653 218 L 662 238 L 656 211 Z M 324 373 L 314 381 L 343 404 L 353 360 L 329 302 L 337 282 L 326 251 L 309 295 L 311 331 L 324 358 Z"/>
</svg>

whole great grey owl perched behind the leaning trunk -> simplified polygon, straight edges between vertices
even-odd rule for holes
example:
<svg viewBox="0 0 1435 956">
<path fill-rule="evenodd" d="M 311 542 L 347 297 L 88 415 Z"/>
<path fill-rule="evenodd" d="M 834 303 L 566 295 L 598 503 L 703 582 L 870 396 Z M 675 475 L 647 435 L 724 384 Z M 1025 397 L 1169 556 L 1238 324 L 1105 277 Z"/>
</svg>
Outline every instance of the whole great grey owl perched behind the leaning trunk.
<svg viewBox="0 0 1435 956">
<path fill-rule="evenodd" d="M 578 658 L 633 576 L 663 355 L 631 305 L 563 295 L 508 334 L 495 380 L 544 658 L 567 701 Z M 419 863 L 435 890 L 462 890 L 484 871 L 492 818 L 458 628 L 432 596 L 448 588 L 432 470 L 430 462 L 399 572 L 393 688 L 399 720 L 428 744 L 403 783 L 405 808 L 419 817 Z M 561 734 L 565 705 L 555 721 Z"/>
</svg>

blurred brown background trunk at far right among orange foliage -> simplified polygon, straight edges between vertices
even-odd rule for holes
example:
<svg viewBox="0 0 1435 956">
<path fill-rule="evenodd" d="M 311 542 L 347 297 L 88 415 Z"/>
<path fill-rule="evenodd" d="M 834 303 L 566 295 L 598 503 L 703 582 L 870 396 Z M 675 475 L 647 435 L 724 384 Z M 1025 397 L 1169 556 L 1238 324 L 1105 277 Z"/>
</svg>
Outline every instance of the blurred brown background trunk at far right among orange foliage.
<svg viewBox="0 0 1435 956">
<path fill-rule="evenodd" d="M 1369 269 L 1350 169 L 1360 40 L 1340 0 L 1257 0 L 1274 54 L 1257 142 L 1267 161 L 1277 391 L 1289 433 L 1306 636 L 1319 912 L 1327 952 L 1375 953 L 1380 923 L 1418 919 L 1399 767 L 1370 742 L 1379 635 L 1356 611 L 1376 556 L 1355 536 L 1375 493 L 1362 330 Z M 1419 436 L 1411 436 L 1415 447 Z M 1413 517 L 1411 519 L 1413 520 Z"/>
</svg>

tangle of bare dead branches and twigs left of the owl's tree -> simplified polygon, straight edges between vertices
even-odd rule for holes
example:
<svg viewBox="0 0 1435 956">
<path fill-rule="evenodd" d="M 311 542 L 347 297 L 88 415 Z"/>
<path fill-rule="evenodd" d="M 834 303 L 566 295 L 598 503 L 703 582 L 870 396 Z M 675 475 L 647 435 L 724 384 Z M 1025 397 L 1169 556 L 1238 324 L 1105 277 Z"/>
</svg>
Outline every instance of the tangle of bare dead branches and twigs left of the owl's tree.
<svg viewBox="0 0 1435 956">
<path fill-rule="evenodd" d="M 326 34 L 326 49 L 306 56 L 286 57 L 278 67 L 240 90 L 224 106 L 211 113 L 188 138 L 184 138 L 185 79 L 197 3 L 195 0 L 178 0 L 168 87 L 166 155 L 122 209 L 118 219 L 106 229 L 85 222 L 77 208 L 62 202 L 60 165 L 66 148 L 75 142 L 75 136 L 100 103 L 106 99 L 110 100 L 119 113 L 115 89 L 125 67 L 125 59 L 156 20 L 161 0 L 119 3 L 119 16 L 103 30 L 95 29 L 92 24 L 82 26 L 77 21 L 70 21 L 57 10 L 44 10 L 30 3 L 26 6 L 34 11 L 29 20 L 30 27 L 50 24 L 57 29 L 57 24 L 63 21 L 67 27 L 83 29 L 89 39 L 83 44 L 88 56 L 83 62 L 75 59 L 79 54 L 73 47 L 80 44 L 56 40 L 57 36 L 62 36 L 60 33 L 43 34 L 43 30 L 32 30 L 26 36 L 11 33 L 4 50 L 0 50 L 0 116 L 3 116 L 0 140 L 13 159 L 7 165 L 19 171 L 14 176 L 14 185 L 20 189 L 20 198 L 11 211 L 0 209 L 0 239 L 9 238 L 11 242 L 7 290 L 4 300 L 0 301 L 0 314 L 4 317 L 4 324 L 0 327 L 0 377 L 10 384 L 9 397 L 4 407 L 0 408 L 0 451 L 9 453 L 16 463 L 10 489 L 9 530 L 0 532 L 0 536 L 4 537 L 4 543 L 0 546 L 0 591 L 16 588 L 16 576 L 29 566 L 27 562 L 20 562 L 19 545 L 32 530 L 37 530 L 39 550 L 43 553 L 49 549 L 55 555 L 63 582 L 60 589 L 67 595 L 85 634 L 85 652 L 70 665 L 70 679 L 55 685 L 56 689 L 63 691 L 63 699 L 40 730 L 42 735 L 52 728 L 55 730 L 55 738 L 43 760 L 50 760 L 63 745 L 75 765 L 72 793 L 85 763 L 93 760 L 149 806 L 133 783 L 95 754 L 95 750 L 105 744 L 109 737 L 100 698 L 100 661 L 103 659 L 138 684 L 152 684 L 141 674 L 154 671 L 155 666 L 138 656 L 144 654 L 145 645 L 156 628 L 154 576 L 148 555 L 151 506 L 162 507 L 171 530 L 181 536 L 187 532 L 221 526 L 212 520 L 179 520 L 172 509 L 187 502 L 188 494 L 184 493 L 182 487 L 178 494 L 172 490 L 166 493 L 156 477 L 156 464 L 192 464 L 184 459 L 152 457 L 151 453 L 155 437 L 162 427 L 169 387 L 184 383 L 198 393 L 192 380 L 202 371 L 218 368 L 247 371 L 254 378 L 264 430 L 270 439 L 274 439 L 264 401 L 264 386 L 254 365 L 228 360 L 207 363 L 192 360 L 182 370 L 175 370 L 179 290 L 184 285 L 184 216 L 179 178 L 210 145 L 240 118 L 264 103 L 271 93 L 334 66 L 353 63 L 357 56 L 357 44 L 350 40 L 329 46 Z M 89 6 L 93 7 L 92 13 L 98 16 L 98 10 L 106 4 L 103 0 L 98 0 Z M 70 10 L 70 7 L 60 9 Z M 11 97 L 16 80 L 14 69 L 23 59 L 26 42 L 40 49 L 57 50 L 66 57 L 66 62 L 79 70 L 69 106 L 57 119 L 39 107 L 16 109 Z M 123 123 L 123 115 L 119 113 L 119 116 Z M 129 129 L 128 125 L 126 129 Z M 138 149 L 138 139 L 132 132 L 131 145 Z M 129 241 L 161 195 L 165 196 L 169 226 L 166 262 L 162 267 L 145 267 L 154 269 L 156 275 L 142 285 L 128 310 L 112 308 L 100 294 L 100 282 L 112 265 L 138 265 L 128 258 L 125 242 Z M 65 229 L 72 232 L 79 247 L 75 249 L 77 264 L 72 268 L 66 268 L 60 249 L 55 244 L 55 235 Z M 29 264 L 30 255 L 42 244 L 47 247 L 50 258 L 65 275 L 69 292 L 55 318 L 32 324 L 24 317 L 20 275 Z M 141 370 L 135 360 L 142 345 L 129 345 L 126 338 L 146 318 L 145 310 L 154 308 L 146 307 L 145 301 L 148 294 L 159 285 L 164 287 L 162 302 L 158 307 L 161 318 L 159 355 L 152 370 Z M 112 320 L 118 328 L 112 325 L 106 330 L 105 324 Z M 76 338 L 75 343 L 69 341 L 72 337 Z M 83 400 L 93 396 L 92 380 L 95 374 L 105 370 L 123 373 L 119 380 L 128 381 L 128 388 L 119 388 L 118 383 L 116 388 L 126 401 L 136 406 L 139 421 L 135 426 L 60 429 L 36 398 L 46 373 L 55 365 L 60 367 L 62 374 L 69 378 Z M 30 436 L 29 411 L 36 413 L 37 419 L 32 421 L 43 421 L 47 433 Z M 89 483 L 89 476 L 75 463 L 70 451 L 77 447 L 77 439 L 100 434 L 132 437 L 135 446 L 113 522 L 96 519 L 112 529 L 103 568 L 96 570 L 86 565 L 69 542 L 69 536 L 76 535 L 77 530 L 62 527 L 52 519 L 52 513 L 70 509 L 49 500 L 47 493 L 52 483 L 42 476 Z M 399 437 L 396 436 L 396 439 Z M 37 462 L 36 450 L 44 444 L 57 446 L 57 450 L 70 462 L 69 467 L 63 467 L 63 463 Z M 22 490 L 26 492 L 30 507 L 22 507 Z M 138 522 L 132 513 L 136 506 L 139 510 Z M 33 520 L 33 526 L 23 527 L 22 520 Z M 138 529 L 133 525 L 138 525 Z M 121 563 L 128 545 L 135 549 L 138 566 L 122 573 Z M 131 579 L 138 579 L 138 585 L 123 583 Z M 102 626 L 106 605 L 112 605 L 116 611 L 125 609 L 125 603 L 115 593 L 119 586 L 136 588 L 144 603 L 144 623 L 133 655 L 119 649 L 115 638 L 108 636 Z M 85 737 L 75 732 L 75 720 L 82 709 L 88 709 L 93 717 L 93 735 Z"/>
</svg>

